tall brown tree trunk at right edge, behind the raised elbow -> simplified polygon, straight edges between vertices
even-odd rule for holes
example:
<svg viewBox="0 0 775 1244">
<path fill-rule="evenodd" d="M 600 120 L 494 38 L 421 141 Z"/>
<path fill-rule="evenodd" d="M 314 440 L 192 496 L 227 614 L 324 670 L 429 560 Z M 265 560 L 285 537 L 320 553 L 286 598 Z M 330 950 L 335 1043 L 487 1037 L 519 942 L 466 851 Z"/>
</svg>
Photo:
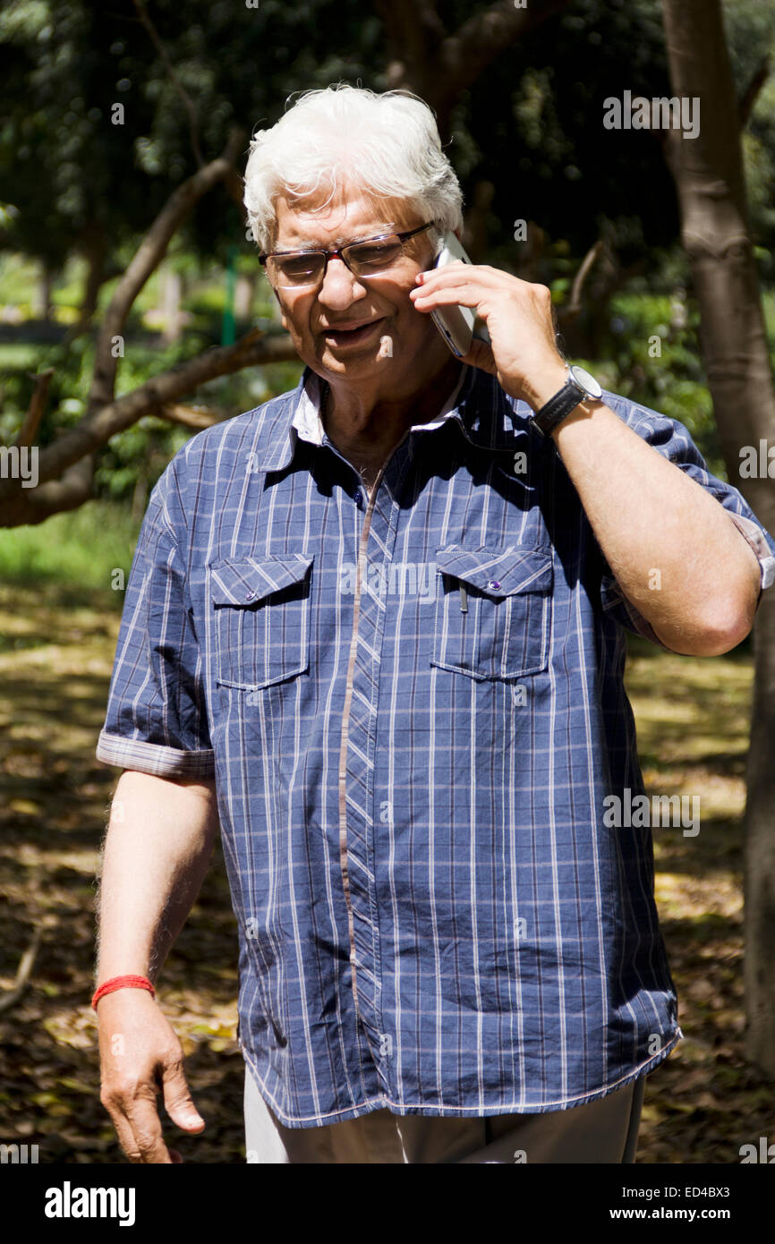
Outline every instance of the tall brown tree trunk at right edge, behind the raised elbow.
<svg viewBox="0 0 775 1244">
<path fill-rule="evenodd" d="M 775 442 L 775 392 L 748 231 L 740 122 L 720 0 L 663 0 L 673 95 L 699 98 L 697 138 L 668 131 L 702 351 L 730 483 L 775 530 L 775 488 L 740 478 L 740 449 Z M 745 810 L 746 1057 L 775 1075 L 775 601 L 754 627 L 755 685 Z"/>
</svg>

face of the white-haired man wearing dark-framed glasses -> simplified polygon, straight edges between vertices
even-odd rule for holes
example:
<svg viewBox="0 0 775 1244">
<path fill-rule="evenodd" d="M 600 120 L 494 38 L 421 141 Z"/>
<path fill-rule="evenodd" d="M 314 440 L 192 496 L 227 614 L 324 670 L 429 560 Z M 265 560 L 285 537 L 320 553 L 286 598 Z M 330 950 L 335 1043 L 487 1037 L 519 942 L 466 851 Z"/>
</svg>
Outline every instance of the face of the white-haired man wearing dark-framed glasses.
<svg viewBox="0 0 775 1244">
<path fill-rule="evenodd" d="M 374 207 L 362 190 L 347 185 L 336 203 L 318 211 L 316 207 L 280 197 L 272 250 L 341 246 L 425 224 L 401 203 L 392 204 L 392 219 L 384 219 L 384 205 Z M 433 238 L 428 230 L 408 239 L 399 259 L 379 276 L 356 276 L 335 256 L 318 286 L 275 291 L 282 323 L 312 371 L 328 381 L 398 391 L 444 361 L 445 347 L 430 316 L 409 300 L 414 277 L 433 264 Z"/>
</svg>

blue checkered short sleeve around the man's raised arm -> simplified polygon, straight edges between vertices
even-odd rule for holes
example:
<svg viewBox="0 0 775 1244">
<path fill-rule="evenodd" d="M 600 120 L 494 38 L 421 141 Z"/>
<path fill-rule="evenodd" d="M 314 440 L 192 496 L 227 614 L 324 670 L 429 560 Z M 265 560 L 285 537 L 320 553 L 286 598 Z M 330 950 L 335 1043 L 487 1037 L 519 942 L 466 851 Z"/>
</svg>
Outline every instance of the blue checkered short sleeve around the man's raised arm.
<svg viewBox="0 0 775 1244">
<path fill-rule="evenodd" d="M 687 475 L 690 475 L 693 480 L 700 484 L 702 488 L 724 506 L 738 531 L 756 555 L 760 566 L 759 598 L 761 600 L 761 592 L 771 587 L 773 582 L 775 582 L 775 540 L 761 526 L 741 493 L 736 488 L 733 488 L 731 484 L 725 484 L 710 474 L 703 455 L 683 423 L 679 423 L 677 419 L 668 419 L 666 415 L 658 414 L 648 407 L 629 402 L 616 393 L 603 391 L 602 401 L 633 432 L 637 432 L 643 440 L 647 440 L 657 453 L 669 459 L 675 466 L 685 471 Z M 623 595 L 618 582 L 611 573 L 602 550 L 601 557 L 603 562 L 601 603 L 606 615 L 628 631 L 633 631 L 636 634 L 659 644 L 661 648 L 666 648 L 667 646 L 657 637 L 642 613 Z"/>
</svg>

